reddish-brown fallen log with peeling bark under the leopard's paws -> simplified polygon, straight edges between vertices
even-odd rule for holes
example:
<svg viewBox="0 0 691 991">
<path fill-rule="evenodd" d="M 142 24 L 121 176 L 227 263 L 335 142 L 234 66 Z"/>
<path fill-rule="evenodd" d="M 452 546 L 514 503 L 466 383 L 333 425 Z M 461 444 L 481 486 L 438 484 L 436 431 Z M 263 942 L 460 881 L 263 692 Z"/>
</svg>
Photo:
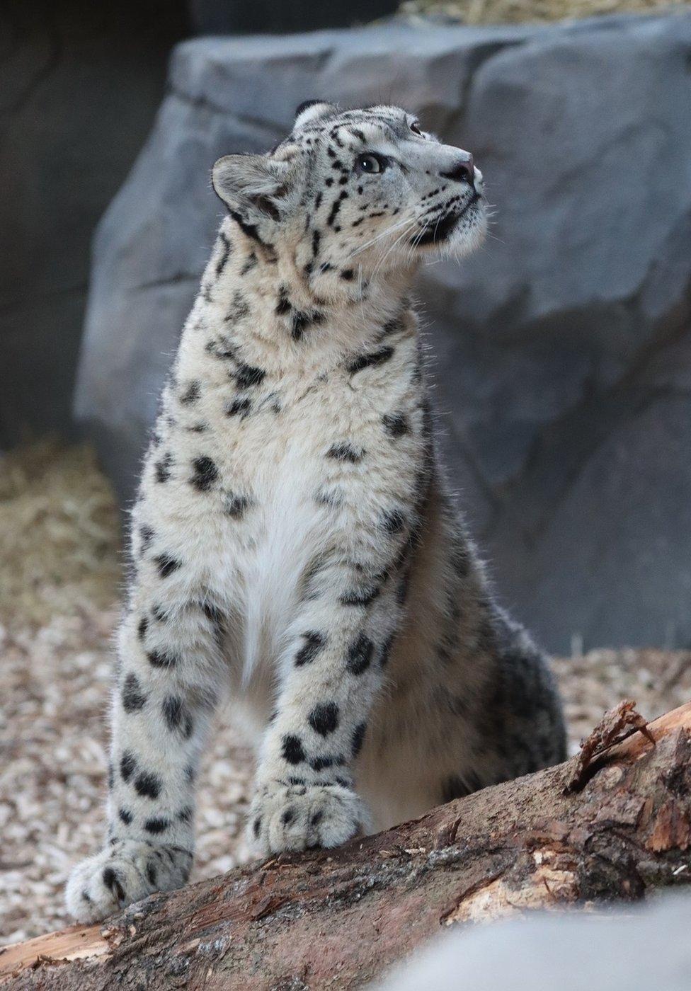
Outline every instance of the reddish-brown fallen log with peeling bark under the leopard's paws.
<svg viewBox="0 0 691 991">
<path fill-rule="evenodd" d="M 6 947 L 0 985 L 354 988 L 453 924 L 685 884 L 691 703 L 642 732 L 632 710 L 608 714 L 583 759 L 337 850 L 241 867 L 152 896 L 104 925 Z"/>
</svg>

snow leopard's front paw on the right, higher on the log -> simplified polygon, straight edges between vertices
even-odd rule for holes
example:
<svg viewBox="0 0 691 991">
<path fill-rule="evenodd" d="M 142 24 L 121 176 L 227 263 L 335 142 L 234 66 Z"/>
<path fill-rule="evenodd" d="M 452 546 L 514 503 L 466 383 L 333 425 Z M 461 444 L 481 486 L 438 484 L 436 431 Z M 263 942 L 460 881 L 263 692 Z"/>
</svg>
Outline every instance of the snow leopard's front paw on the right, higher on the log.
<svg viewBox="0 0 691 991">
<path fill-rule="evenodd" d="M 260 786 L 250 807 L 248 839 L 261 855 L 338 846 L 367 826 L 365 806 L 342 785 Z"/>
</svg>

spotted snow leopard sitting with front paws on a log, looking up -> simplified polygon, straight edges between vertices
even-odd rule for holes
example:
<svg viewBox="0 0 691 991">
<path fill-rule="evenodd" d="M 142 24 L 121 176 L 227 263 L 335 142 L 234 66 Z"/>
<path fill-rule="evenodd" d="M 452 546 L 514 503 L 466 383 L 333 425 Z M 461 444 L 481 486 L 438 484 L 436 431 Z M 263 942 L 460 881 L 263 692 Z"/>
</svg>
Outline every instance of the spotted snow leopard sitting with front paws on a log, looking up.
<svg viewBox="0 0 691 991">
<path fill-rule="evenodd" d="M 131 511 L 92 922 L 184 884 L 214 713 L 257 753 L 260 856 L 334 847 L 565 757 L 437 453 L 411 301 L 487 228 L 483 176 L 395 106 L 309 101 L 213 166 L 224 217 Z M 462 823 L 460 826 L 462 834 Z"/>
</svg>

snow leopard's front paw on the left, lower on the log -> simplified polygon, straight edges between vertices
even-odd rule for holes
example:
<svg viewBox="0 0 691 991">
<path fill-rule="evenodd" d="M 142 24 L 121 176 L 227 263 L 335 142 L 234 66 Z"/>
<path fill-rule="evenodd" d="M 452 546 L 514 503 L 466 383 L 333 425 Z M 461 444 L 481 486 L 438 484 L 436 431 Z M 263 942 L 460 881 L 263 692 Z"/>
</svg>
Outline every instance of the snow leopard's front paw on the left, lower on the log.
<svg viewBox="0 0 691 991">
<path fill-rule="evenodd" d="M 191 853 L 178 847 L 121 840 L 72 869 L 67 911 L 77 922 L 98 922 L 155 891 L 181 887 L 191 860 Z"/>
</svg>

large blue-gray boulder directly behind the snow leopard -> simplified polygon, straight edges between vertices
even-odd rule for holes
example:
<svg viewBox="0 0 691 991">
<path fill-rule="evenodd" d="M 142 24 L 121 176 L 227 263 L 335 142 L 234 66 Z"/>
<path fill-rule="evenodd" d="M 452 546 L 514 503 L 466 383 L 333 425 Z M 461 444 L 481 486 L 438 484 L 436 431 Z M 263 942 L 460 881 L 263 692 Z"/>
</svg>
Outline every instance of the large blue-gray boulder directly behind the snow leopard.
<svg viewBox="0 0 691 991">
<path fill-rule="evenodd" d="M 179 45 L 94 245 L 75 409 L 120 494 L 221 216 L 211 165 L 270 148 L 311 97 L 418 112 L 499 204 L 495 237 L 424 268 L 419 295 L 452 480 L 503 600 L 552 650 L 686 645 L 688 8 Z"/>
</svg>

